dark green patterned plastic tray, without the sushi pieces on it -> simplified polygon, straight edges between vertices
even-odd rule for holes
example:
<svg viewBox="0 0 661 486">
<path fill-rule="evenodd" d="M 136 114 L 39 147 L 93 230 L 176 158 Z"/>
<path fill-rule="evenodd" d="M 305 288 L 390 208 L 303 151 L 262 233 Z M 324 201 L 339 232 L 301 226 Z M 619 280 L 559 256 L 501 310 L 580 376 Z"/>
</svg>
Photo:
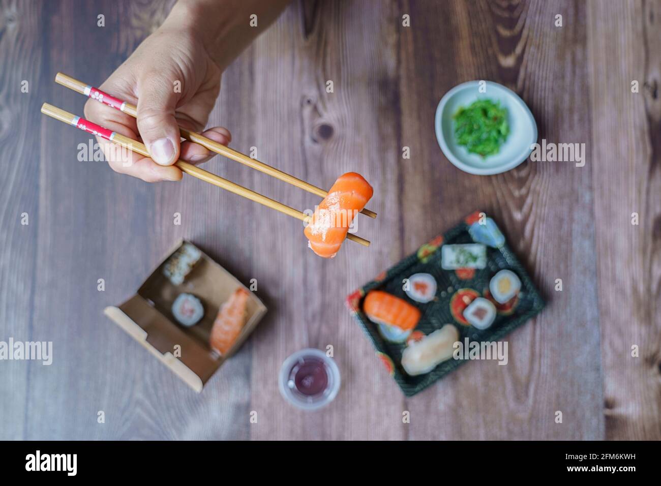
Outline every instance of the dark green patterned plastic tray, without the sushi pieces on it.
<svg viewBox="0 0 661 486">
<path fill-rule="evenodd" d="M 474 270 L 444 270 L 441 268 L 440 249 L 442 245 L 457 243 L 485 244 L 486 268 Z M 452 296 L 463 289 L 472 289 L 479 296 L 485 296 L 490 278 L 498 270 L 504 268 L 515 272 L 521 280 L 521 290 L 514 308 L 505 311 L 499 310 L 494 323 L 482 331 L 455 319 L 450 311 Z M 419 272 L 432 274 L 437 283 L 436 298 L 426 304 L 411 300 L 403 290 L 403 279 Z M 539 313 L 544 307 L 544 301 L 524 267 L 507 246 L 496 223 L 491 218 L 487 218 L 485 213 L 474 212 L 459 225 L 422 245 L 416 253 L 395 264 L 389 270 L 381 272 L 374 280 L 352 292 L 346 298 L 346 304 L 352 315 L 362 325 L 374 344 L 377 357 L 385 364 L 391 376 L 395 378 L 407 396 L 415 395 L 466 360 L 450 358 L 427 374 L 408 376 L 401 366 L 402 352 L 407 344 L 385 341 L 379 333 L 377 325 L 370 321 L 362 311 L 362 301 L 370 290 L 389 292 L 418 307 L 422 311 L 422 317 L 414 332 L 420 331 L 428 335 L 443 327 L 444 324 L 452 323 L 459 329 L 459 339 L 462 343 L 466 338 L 469 341 L 498 341 Z"/>
</svg>

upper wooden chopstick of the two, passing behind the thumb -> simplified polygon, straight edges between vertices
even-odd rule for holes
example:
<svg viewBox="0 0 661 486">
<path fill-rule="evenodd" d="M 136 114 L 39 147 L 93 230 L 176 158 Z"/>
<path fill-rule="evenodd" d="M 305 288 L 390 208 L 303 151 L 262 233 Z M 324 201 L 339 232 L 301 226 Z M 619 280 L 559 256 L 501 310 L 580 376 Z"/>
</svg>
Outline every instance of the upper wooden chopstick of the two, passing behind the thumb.
<svg viewBox="0 0 661 486">
<path fill-rule="evenodd" d="M 58 73 L 55 77 L 55 81 L 64 87 L 72 89 L 77 93 L 81 93 L 81 95 L 96 99 L 104 104 L 107 104 L 108 106 L 112 106 L 112 108 L 116 108 L 130 116 L 133 116 L 134 118 L 137 118 L 137 108 L 134 104 L 117 99 L 112 95 L 108 95 L 108 93 L 100 91 L 98 88 L 86 85 L 82 81 L 79 81 L 71 76 L 67 76 L 63 73 Z M 301 179 L 297 179 L 296 177 L 293 177 L 293 175 L 289 175 L 288 173 L 282 172 L 275 167 L 271 167 L 270 165 L 266 165 L 265 163 L 256 159 L 252 159 L 251 157 L 248 157 L 241 152 L 237 152 L 236 150 L 226 147 L 221 143 L 214 142 L 214 140 L 206 138 L 196 132 L 191 132 L 190 130 L 186 130 L 185 128 L 181 127 L 179 127 L 179 131 L 181 136 L 186 140 L 199 143 L 212 152 L 223 155 L 228 159 L 240 162 L 243 165 L 251 167 L 252 169 L 256 169 L 257 171 L 263 172 L 264 174 L 268 174 L 272 177 L 275 177 L 276 179 L 280 179 L 280 181 L 288 182 L 293 186 L 307 190 L 307 192 L 317 194 L 317 196 L 322 198 L 325 198 L 328 195 L 327 191 L 317 186 L 313 186 L 312 184 L 309 184 L 309 182 L 301 181 Z M 370 218 L 376 218 L 376 213 L 366 208 L 364 208 L 361 212 Z"/>
</svg>

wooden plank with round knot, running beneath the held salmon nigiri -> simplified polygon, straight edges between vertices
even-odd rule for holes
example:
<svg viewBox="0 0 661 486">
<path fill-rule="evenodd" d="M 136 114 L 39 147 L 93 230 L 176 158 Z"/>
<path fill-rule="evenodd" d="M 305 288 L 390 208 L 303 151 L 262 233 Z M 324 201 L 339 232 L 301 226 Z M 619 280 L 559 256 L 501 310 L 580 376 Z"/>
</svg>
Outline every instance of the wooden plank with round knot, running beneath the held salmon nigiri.
<svg viewBox="0 0 661 486">
<path fill-rule="evenodd" d="M 332 261 L 305 248 L 297 223 L 266 218 L 254 227 L 253 241 L 273 240 L 268 252 L 256 247 L 251 257 L 272 320 L 253 340 L 251 407 L 264 420 L 251 438 L 403 438 L 397 426 L 403 397 L 344 307 L 346 295 L 401 255 L 390 236 L 399 225 L 389 196 L 397 191 L 390 168 L 399 152 L 390 104 L 397 91 L 393 11 L 383 2 L 307 2 L 303 9 L 292 5 L 254 46 L 256 145 L 266 161 L 322 187 L 346 171 L 362 173 L 375 187 L 369 205 L 379 216 L 358 218 L 358 233 L 373 242 L 369 249 L 349 243 Z M 334 93 L 326 92 L 327 80 Z M 318 201 L 264 178 L 256 187 L 299 208 Z M 302 414 L 280 397 L 277 372 L 292 352 L 329 344 L 342 389 L 328 409 Z"/>
</svg>

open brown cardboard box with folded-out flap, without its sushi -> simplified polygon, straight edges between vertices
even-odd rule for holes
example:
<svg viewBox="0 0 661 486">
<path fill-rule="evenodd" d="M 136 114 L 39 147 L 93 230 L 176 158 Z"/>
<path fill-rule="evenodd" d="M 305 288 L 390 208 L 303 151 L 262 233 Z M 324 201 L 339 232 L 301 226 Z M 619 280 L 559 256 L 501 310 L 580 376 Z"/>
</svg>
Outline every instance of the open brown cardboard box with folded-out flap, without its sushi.
<svg viewBox="0 0 661 486">
<path fill-rule="evenodd" d="M 180 240 L 173 247 L 137 294 L 118 307 L 106 307 L 104 313 L 200 392 L 215 370 L 247 339 L 266 313 L 266 306 L 253 292 L 248 292 L 247 317 L 241 334 L 227 354 L 212 350 L 209 337 L 218 309 L 237 288 L 249 289 L 202 250 L 200 260 L 184 282 L 176 286 L 172 284 L 163 274 L 163 265 L 183 243 L 184 240 Z M 171 311 L 176 296 L 182 292 L 194 294 L 204 306 L 204 316 L 192 327 L 178 324 Z"/>
</svg>

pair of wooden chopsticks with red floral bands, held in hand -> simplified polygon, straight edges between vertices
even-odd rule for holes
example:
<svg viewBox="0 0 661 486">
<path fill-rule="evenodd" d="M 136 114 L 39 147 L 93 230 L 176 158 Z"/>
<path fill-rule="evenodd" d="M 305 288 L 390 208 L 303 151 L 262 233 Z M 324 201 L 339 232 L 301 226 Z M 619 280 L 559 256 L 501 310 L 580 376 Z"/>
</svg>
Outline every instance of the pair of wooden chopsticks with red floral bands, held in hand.
<svg viewBox="0 0 661 486">
<path fill-rule="evenodd" d="M 56 82 L 69 89 L 72 89 L 73 91 L 77 91 L 77 93 L 81 93 L 82 95 L 91 97 L 93 99 L 96 99 L 97 101 L 107 104 L 108 106 L 112 106 L 113 108 L 121 110 L 122 112 L 130 116 L 137 117 L 137 108 L 133 104 L 112 97 L 111 95 L 108 95 L 108 93 L 104 93 L 95 87 L 86 85 L 85 83 L 82 83 L 77 79 L 73 79 L 72 77 L 69 77 L 62 73 L 58 73 L 58 75 L 56 76 Z M 145 157 L 150 156 L 149 152 L 147 151 L 147 147 L 145 147 L 143 143 L 137 142 L 137 140 L 133 140 L 116 132 L 112 132 L 111 130 L 108 130 L 106 128 L 103 128 L 102 126 L 90 122 L 89 120 L 85 120 L 85 118 L 81 118 L 65 110 L 61 110 L 57 106 L 44 103 L 41 111 L 42 113 L 51 116 L 56 120 L 60 120 L 61 122 L 74 125 L 77 128 L 84 130 L 85 132 L 89 132 L 91 134 L 100 136 L 101 138 L 104 138 L 106 140 L 110 140 L 111 142 L 117 143 L 118 145 L 121 145 L 122 147 L 130 149 L 134 152 L 137 152 Z M 190 130 L 186 130 L 184 128 L 180 128 L 180 133 L 181 136 L 186 140 L 190 140 L 191 142 L 195 142 L 195 143 L 200 143 L 200 145 L 203 145 L 204 147 L 215 153 L 224 155 L 225 157 L 243 163 L 260 172 L 271 175 L 272 177 L 276 177 L 276 179 L 280 179 L 281 181 L 288 182 L 294 186 L 302 188 L 303 190 L 307 190 L 308 192 L 311 192 L 313 194 L 317 194 L 318 196 L 321 197 L 325 197 L 328 194 L 325 190 L 321 188 L 313 186 L 308 182 L 301 181 L 300 179 L 297 179 L 292 175 L 279 171 L 274 167 L 270 167 L 270 165 L 266 165 L 265 163 L 262 163 L 255 159 L 251 159 L 251 157 L 248 157 L 243 153 L 230 149 L 229 147 L 226 147 L 221 143 L 214 142 L 214 140 L 210 140 L 200 134 L 197 134 L 195 132 L 190 132 Z M 254 202 L 263 204 L 264 206 L 268 206 L 269 208 L 272 208 L 276 211 L 282 212 L 284 214 L 288 214 L 289 216 L 292 216 L 293 218 L 297 218 L 298 220 L 305 222 L 310 218 L 310 216 L 307 216 L 306 214 L 303 214 L 298 210 L 290 208 L 290 206 L 286 206 L 281 202 L 278 202 L 266 196 L 262 196 L 262 194 L 259 194 L 258 192 L 254 192 L 253 190 L 240 186 L 239 184 L 235 184 L 234 182 L 227 181 L 227 179 L 223 179 L 222 177 L 219 177 L 215 174 L 205 171 L 204 169 L 200 169 L 200 167 L 196 167 L 195 165 L 192 165 L 191 163 L 188 163 L 186 161 L 178 160 L 175 162 L 174 165 L 179 169 L 181 169 L 182 172 L 188 175 L 192 175 L 193 177 L 197 177 L 202 181 L 206 181 L 209 182 L 210 184 L 214 184 L 215 186 L 218 186 L 225 190 L 229 190 L 229 192 L 233 192 L 234 194 L 239 194 L 239 196 L 243 196 Z M 374 212 L 371 212 L 367 209 L 362 210 L 362 213 L 366 214 L 367 216 L 370 216 L 371 218 L 376 217 L 376 214 Z M 360 243 L 361 245 L 364 245 L 366 247 L 369 246 L 369 241 L 364 238 L 361 238 L 360 236 L 356 236 L 352 233 L 348 233 L 346 237 L 347 239 L 350 239 L 351 241 L 355 241 L 356 243 Z"/>
</svg>

